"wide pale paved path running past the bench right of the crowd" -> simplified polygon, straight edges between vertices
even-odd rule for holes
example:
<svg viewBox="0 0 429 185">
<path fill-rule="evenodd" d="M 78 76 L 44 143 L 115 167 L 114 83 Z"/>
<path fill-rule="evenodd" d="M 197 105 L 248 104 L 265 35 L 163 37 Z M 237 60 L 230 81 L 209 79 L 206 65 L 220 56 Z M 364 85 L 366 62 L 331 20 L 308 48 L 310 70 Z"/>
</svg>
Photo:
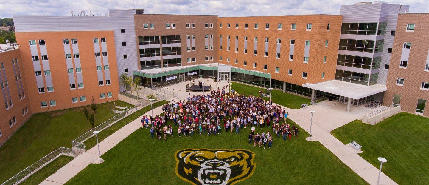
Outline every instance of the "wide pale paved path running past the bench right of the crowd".
<svg viewBox="0 0 429 185">
<path fill-rule="evenodd" d="M 288 118 L 292 119 L 307 132 L 310 131 L 311 122 L 311 113 L 309 111 L 316 111 L 313 115 L 313 124 L 311 126 L 311 136 L 313 140 L 319 141 L 356 174 L 366 180 L 366 182 L 371 185 L 377 184 L 378 168 L 360 157 L 354 148 L 344 145 L 330 133 L 335 128 L 341 127 L 350 121 L 361 119 L 363 115 L 375 109 L 366 109 L 364 106 L 352 106 L 350 112 L 346 112 L 346 104 L 328 100 L 303 109 L 283 108 L 289 112 L 290 115 Z M 308 135 L 301 135 L 301 137 L 308 137 Z M 389 185 L 396 184 L 396 182 L 384 175 L 384 173 L 381 173 L 380 184 Z"/>
</svg>

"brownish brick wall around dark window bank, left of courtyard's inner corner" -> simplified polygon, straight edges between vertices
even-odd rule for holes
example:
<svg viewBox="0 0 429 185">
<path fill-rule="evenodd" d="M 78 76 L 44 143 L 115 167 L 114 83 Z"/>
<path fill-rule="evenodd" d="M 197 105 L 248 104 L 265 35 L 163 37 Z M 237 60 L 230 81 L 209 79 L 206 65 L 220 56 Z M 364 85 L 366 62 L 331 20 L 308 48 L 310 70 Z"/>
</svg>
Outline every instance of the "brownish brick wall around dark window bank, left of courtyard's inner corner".
<svg viewBox="0 0 429 185">
<path fill-rule="evenodd" d="M 218 35 L 217 32 L 217 15 L 157 15 L 157 14 L 136 14 L 136 39 L 139 42 L 139 36 L 161 36 L 161 35 L 180 35 L 181 36 L 181 55 L 182 66 L 207 64 L 218 62 L 217 50 Z M 155 29 L 143 29 L 143 24 L 154 23 Z M 175 23 L 175 29 L 166 29 L 166 23 Z M 186 28 L 186 23 L 195 23 L 195 28 Z M 205 23 L 213 23 L 213 28 L 205 28 Z M 195 52 L 187 52 L 186 36 L 195 35 Z M 213 50 L 205 51 L 205 35 L 213 35 Z M 161 45 L 162 47 L 162 45 Z M 137 44 L 137 55 L 139 55 L 139 45 Z M 205 57 L 213 56 L 213 61 L 205 61 Z M 140 57 L 138 65 L 140 69 Z M 187 63 L 187 58 L 196 58 L 195 63 Z M 162 63 L 162 49 L 161 49 Z"/>
</svg>

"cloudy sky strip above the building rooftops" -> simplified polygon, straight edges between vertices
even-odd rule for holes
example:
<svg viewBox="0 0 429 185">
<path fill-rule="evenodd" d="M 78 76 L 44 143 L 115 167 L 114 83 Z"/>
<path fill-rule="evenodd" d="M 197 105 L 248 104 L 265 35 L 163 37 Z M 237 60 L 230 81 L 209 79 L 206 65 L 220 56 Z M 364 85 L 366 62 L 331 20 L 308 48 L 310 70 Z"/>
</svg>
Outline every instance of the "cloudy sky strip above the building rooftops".
<svg viewBox="0 0 429 185">
<path fill-rule="evenodd" d="M 341 5 L 365 0 L 0 0 L 0 18 L 12 15 L 70 15 L 85 10 L 105 15 L 109 9 L 145 9 L 146 14 L 199 14 L 219 17 L 339 14 Z M 429 13 L 425 0 L 386 0 L 409 5 L 411 13 Z"/>
</svg>

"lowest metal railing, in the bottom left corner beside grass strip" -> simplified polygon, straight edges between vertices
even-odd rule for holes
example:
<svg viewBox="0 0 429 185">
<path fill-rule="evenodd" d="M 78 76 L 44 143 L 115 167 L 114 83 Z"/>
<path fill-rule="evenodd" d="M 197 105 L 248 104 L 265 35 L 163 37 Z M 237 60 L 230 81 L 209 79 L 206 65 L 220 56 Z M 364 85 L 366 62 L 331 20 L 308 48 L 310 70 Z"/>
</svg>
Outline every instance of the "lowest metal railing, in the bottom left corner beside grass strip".
<svg viewBox="0 0 429 185">
<path fill-rule="evenodd" d="M 42 167 L 44 167 L 46 164 L 50 163 L 51 161 L 53 161 L 54 159 L 56 159 L 60 155 L 68 155 L 71 157 L 75 157 L 72 149 L 60 147 L 60 148 L 54 150 L 54 152 L 51 152 L 50 154 L 41 158 L 39 161 L 31 164 L 29 167 L 25 168 L 20 173 L 16 174 L 15 176 L 10 178 L 6 182 L 3 182 L 1 185 L 14 185 L 14 184 L 18 184 L 18 183 L 24 181 L 30 175 L 32 175 L 36 171 L 40 170 Z"/>
</svg>

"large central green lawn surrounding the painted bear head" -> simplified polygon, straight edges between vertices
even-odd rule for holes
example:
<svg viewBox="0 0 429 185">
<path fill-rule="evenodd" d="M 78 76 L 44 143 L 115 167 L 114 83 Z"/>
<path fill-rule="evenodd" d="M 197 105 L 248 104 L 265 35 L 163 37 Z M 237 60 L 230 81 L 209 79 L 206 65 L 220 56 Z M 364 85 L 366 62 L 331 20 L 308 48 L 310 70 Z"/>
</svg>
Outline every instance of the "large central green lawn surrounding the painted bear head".
<svg viewBox="0 0 429 185">
<path fill-rule="evenodd" d="M 288 121 L 294 124 L 293 121 Z M 256 156 L 255 171 L 239 184 L 366 184 L 319 142 L 308 142 L 301 129 L 299 139 L 273 138 L 273 147 L 248 144 L 250 128 L 217 136 L 176 135 L 166 141 L 151 139 L 149 129 L 140 128 L 101 157 L 102 164 L 90 164 L 66 184 L 188 184 L 175 174 L 175 152 L 181 149 L 247 149 Z M 257 132 L 271 128 L 256 128 Z"/>
</svg>

